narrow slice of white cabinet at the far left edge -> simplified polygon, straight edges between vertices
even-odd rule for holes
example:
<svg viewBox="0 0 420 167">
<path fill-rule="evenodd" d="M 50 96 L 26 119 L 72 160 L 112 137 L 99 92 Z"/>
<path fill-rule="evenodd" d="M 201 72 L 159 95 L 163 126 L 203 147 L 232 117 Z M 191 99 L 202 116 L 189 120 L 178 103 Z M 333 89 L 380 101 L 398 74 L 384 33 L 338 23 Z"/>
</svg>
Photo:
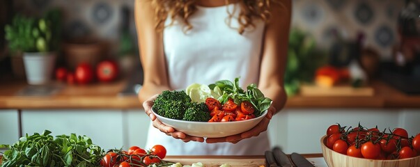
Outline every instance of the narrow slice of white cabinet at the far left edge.
<svg viewBox="0 0 420 167">
<path fill-rule="evenodd" d="M 19 140 L 17 110 L 0 110 L 0 144 L 13 144 Z"/>
</svg>

